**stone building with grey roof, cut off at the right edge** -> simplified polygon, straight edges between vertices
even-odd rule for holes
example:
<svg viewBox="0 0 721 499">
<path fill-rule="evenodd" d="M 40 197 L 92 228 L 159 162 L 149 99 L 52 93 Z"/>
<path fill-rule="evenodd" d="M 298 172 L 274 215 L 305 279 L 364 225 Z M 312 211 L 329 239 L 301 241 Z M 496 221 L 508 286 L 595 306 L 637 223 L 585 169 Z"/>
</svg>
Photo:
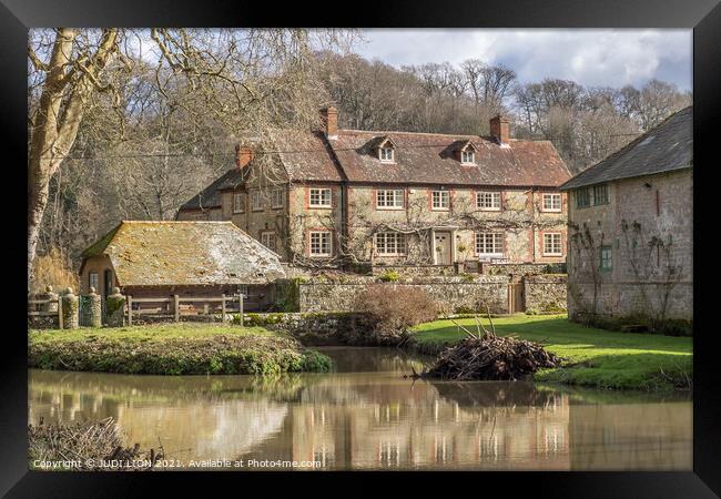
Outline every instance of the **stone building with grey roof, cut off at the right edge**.
<svg viewBox="0 0 721 499">
<path fill-rule="evenodd" d="M 561 186 L 571 317 L 692 319 L 692 123 L 689 106 Z"/>
</svg>

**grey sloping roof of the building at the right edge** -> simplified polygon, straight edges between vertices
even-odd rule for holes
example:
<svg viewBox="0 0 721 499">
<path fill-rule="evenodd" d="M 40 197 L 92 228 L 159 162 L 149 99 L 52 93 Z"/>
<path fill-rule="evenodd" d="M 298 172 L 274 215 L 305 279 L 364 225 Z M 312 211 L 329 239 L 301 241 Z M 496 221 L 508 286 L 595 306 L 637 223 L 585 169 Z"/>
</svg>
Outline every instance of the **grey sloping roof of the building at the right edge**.
<svg viewBox="0 0 721 499">
<path fill-rule="evenodd" d="M 583 170 L 561 189 L 577 189 L 616 179 L 652 175 L 692 167 L 693 108 L 667 118 L 600 163 Z"/>
</svg>

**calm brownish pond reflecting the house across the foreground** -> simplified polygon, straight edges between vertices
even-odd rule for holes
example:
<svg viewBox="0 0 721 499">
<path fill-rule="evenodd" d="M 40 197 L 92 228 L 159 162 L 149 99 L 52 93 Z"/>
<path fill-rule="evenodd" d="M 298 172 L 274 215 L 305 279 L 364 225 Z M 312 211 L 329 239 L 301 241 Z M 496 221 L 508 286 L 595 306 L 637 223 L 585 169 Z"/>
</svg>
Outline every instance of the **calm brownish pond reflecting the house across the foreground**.
<svg viewBox="0 0 721 499">
<path fill-rule="evenodd" d="M 29 371 L 29 422 L 115 418 L 128 444 L 191 461 L 296 469 L 691 470 L 689 395 L 404 378 L 428 358 L 318 348 L 329 374 Z M 206 462 L 207 465 L 207 462 Z M 213 464 L 213 466 L 220 466 Z M 287 469 L 287 468 L 284 468 Z"/>
</svg>

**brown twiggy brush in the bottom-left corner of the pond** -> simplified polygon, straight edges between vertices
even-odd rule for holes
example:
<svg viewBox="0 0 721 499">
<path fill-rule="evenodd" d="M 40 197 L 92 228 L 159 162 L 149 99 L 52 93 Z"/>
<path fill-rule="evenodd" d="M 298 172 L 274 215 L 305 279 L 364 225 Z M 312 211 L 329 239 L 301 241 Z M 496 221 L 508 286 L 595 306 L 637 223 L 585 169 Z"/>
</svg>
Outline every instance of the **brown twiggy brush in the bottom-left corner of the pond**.
<svg viewBox="0 0 721 499">
<path fill-rule="evenodd" d="M 162 445 L 156 451 L 141 450 L 140 445 L 125 447 L 123 434 L 113 418 L 100 421 L 28 426 L 28 459 L 62 465 L 52 470 L 141 471 L 151 470 L 164 459 Z"/>
</svg>

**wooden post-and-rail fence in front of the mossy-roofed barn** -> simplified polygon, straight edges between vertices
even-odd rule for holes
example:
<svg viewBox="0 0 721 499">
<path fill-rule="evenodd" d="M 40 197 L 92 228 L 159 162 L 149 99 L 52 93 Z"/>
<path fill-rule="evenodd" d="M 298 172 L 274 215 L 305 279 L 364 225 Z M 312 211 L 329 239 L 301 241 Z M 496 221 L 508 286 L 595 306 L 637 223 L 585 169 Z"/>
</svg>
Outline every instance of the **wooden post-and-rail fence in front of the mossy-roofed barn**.
<svg viewBox="0 0 721 499">
<path fill-rule="evenodd" d="M 227 314 L 237 313 L 240 314 L 242 326 L 244 298 L 245 296 L 243 294 L 232 296 L 222 295 L 220 297 L 173 295 L 171 297 L 158 298 L 133 298 L 132 295 L 126 295 L 128 325 L 132 326 L 133 316 L 142 317 L 143 315 L 172 317 L 175 322 L 179 322 L 182 315 L 199 315 L 194 305 L 203 304 L 202 315 L 220 313 L 222 319 L 225 320 Z M 234 306 L 235 303 L 237 303 L 237 307 Z M 159 306 L 149 307 L 142 304 L 158 304 Z M 133 307 L 133 305 L 138 306 Z"/>
</svg>

